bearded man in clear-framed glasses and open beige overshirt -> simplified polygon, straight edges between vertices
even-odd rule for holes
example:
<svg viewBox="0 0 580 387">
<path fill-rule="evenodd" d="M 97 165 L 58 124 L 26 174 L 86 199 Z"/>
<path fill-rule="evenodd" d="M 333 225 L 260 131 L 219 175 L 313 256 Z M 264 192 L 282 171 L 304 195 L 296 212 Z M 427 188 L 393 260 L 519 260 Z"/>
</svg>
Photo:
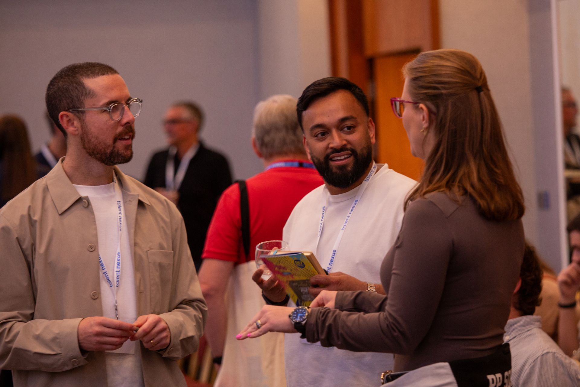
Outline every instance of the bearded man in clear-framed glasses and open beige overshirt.
<svg viewBox="0 0 580 387">
<path fill-rule="evenodd" d="M 0 209 L 0 368 L 15 386 L 185 385 L 206 305 L 169 200 L 124 175 L 142 100 L 102 63 L 61 69 L 46 106 L 67 153 Z"/>
</svg>

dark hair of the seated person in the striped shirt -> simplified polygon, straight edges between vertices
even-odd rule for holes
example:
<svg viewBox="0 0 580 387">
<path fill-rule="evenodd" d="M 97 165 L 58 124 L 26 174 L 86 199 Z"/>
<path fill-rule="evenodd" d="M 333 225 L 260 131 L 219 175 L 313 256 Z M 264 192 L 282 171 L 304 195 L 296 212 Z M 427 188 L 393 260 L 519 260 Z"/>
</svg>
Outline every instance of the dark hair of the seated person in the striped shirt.
<svg viewBox="0 0 580 387">
<path fill-rule="evenodd" d="M 538 254 L 532 245 L 526 243 L 520 268 L 520 290 L 517 291 L 517 300 L 514 302 L 514 308 L 524 316 L 534 314 L 536 306 L 539 306 L 542 301 L 540 298 L 542 275 Z"/>
</svg>

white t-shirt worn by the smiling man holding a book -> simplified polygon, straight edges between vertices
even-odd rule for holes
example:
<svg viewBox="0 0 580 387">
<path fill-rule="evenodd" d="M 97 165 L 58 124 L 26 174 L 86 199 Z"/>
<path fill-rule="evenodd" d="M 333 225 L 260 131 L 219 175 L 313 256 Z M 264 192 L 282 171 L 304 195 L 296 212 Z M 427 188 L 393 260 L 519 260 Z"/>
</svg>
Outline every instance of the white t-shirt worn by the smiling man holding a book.
<svg viewBox="0 0 580 387">
<path fill-rule="evenodd" d="M 380 164 L 379 164 L 380 165 Z M 403 221 L 403 202 L 415 180 L 384 164 L 372 176 L 354 210 L 338 247 L 332 272 L 343 272 L 370 283 L 380 283 L 380 264 L 397 238 Z M 327 267 L 333 245 L 360 186 L 330 195 L 325 186 L 307 194 L 293 209 L 283 239 L 294 251 L 313 251 Z M 328 198 L 324 228 L 316 245 L 322 206 Z M 286 334 L 284 358 L 288 387 L 373 386 L 380 372 L 393 369 L 390 353 L 350 352 L 308 343 Z"/>
</svg>

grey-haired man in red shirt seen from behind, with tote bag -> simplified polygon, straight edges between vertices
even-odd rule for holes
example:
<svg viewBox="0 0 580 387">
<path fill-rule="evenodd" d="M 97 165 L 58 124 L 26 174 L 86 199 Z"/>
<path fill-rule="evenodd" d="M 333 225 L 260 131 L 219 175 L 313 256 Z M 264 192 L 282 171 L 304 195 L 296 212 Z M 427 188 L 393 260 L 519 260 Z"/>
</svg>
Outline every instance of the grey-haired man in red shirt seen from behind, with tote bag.
<svg viewBox="0 0 580 387">
<path fill-rule="evenodd" d="M 220 197 L 202 253 L 199 278 L 209 313 L 205 335 L 214 363 L 223 359 L 215 387 L 285 386 L 283 335 L 265 335 L 252 343 L 238 342 L 235 335 L 264 305 L 252 281 L 255 246 L 281 240 L 296 203 L 323 183 L 306 156 L 292 96 L 275 95 L 258 103 L 252 147 L 266 169 L 246 181 L 251 248 L 246 254 L 240 187 L 234 184 Z"/>
</svg>

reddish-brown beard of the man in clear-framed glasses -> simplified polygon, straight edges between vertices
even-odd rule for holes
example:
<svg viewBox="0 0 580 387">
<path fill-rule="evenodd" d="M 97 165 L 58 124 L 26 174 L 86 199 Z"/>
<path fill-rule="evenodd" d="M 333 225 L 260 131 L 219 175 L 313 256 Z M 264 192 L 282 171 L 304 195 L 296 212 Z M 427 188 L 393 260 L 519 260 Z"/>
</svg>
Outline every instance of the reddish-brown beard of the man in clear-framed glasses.
<svg viewBox="0 0 580 387">
<path fill-rule="evenodd" d="M 133 125 L 125 125 L 123 127 L 123 131 L 115 136 L 113 139 L 113 145 L 108 146 L 108 144 L 103 144 L 95 137 L 93 137 L 88 130 L 86 130 L 86 126 L 82 124 L 82 132 L 81 132 L 81 145 L 82 149 L 86 151 L 86 153 L 94 158 L 95 160 L 102 162 L 104 165 L 117 165 L 117 164 L 125 164 L 125 162 L 131 161 L 133 158 L 133 143 L 131 143 L 131 147 L 128 151 L 117 149 L 115 144 L 117 141 L 125 137 L 126 135 L 132 135 L 132 139 L 135 139 L 135 128 Z"/>
</svg>

